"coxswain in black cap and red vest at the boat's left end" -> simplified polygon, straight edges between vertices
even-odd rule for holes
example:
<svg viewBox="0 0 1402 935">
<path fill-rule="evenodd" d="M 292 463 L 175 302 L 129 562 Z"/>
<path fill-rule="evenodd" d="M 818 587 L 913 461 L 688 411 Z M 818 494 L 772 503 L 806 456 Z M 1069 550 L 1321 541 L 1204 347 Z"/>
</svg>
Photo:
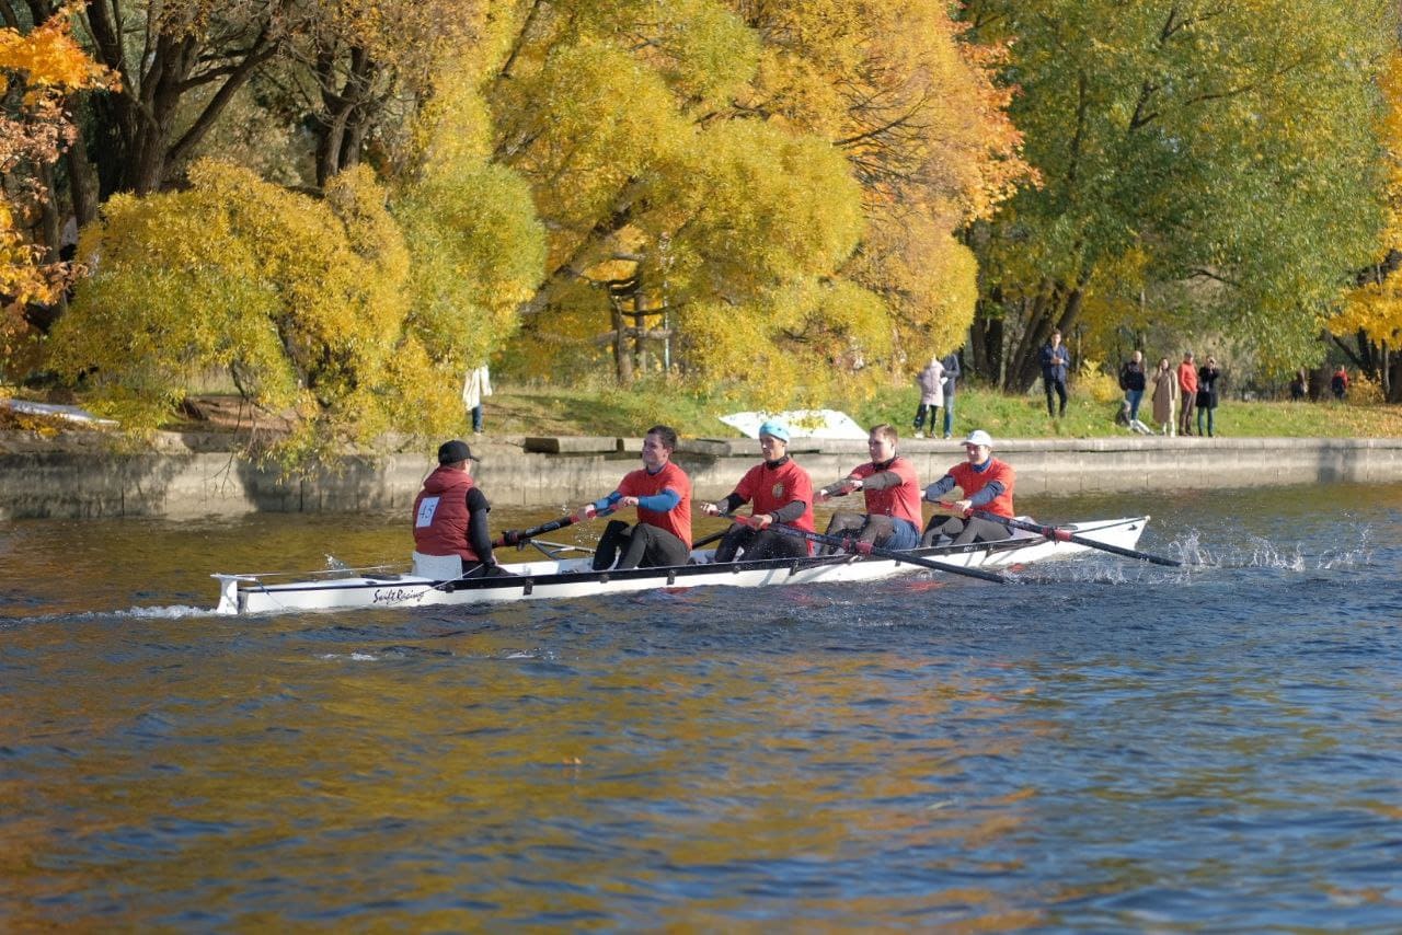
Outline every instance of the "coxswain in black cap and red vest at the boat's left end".
<svg viewBox="0 0 1402 935">
<path fill-rule="evenodd" d="M 492 555 L 486 514 L 492 506 L 472 482 L 472 457 L 467 442 L 439 446 L 439 465 L 423 478 L 414 498 L 414 551 L 416 555 L 461 559 L 461 578 L 509 575 Z"/>
</svg>

